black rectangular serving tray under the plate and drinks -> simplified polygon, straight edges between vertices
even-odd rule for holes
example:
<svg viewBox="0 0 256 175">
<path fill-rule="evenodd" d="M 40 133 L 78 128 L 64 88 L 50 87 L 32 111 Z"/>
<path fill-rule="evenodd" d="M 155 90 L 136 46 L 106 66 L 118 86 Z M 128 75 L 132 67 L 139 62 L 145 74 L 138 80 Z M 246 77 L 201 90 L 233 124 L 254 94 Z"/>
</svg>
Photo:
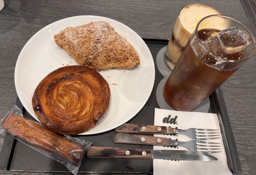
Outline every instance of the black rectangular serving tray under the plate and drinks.
<svg viewBox="0 0 256 175">
<path fill-rule="evenodd" d="M 167 45 L 168 40 L 143 39 L 149 47 L 154 63 L 155 63 L 155 83 L 149 100 L 141 111 L 136 114 L 127 123 L 154 124 L 154 109 L 160 108 L 156 100 L 156 87 L 164 78 L 156 66 L 156 55 L 161 48 Z M 210 108 L 209 113 L 217 113 L 221 133 L 225 145 L 228 167 L 233 174 L 241 173 L 241 166 L 237 154 L 234 135 L 228 118 L 225 101 L 222 90 L 219 87 L 211 96 L 209 96 Z M 25 117 L 33 119 L 32 116 L 22 106 L 17 98 L 17 106 L 23 110 Z M 34 119 L 33 119 L 34 120 Z M 88 140 L 94 146 L 110 146 L 110 147 L 131 147 L 153 149 L 153 146 L 147 145 L 127 145 L 115 144 L 112 141 L 114 130 L 101 134 L 89 136 L 76 136 L 80 139 Z M 4 139 L 2 150 L 0 153 L 0 169 L 10 171 L 23 172 L 69 172 L 61 163 L 35 151 L 29 146 L 13 139 L 7 133 Z M 84 157 L 82 165 L 79 169 L 80 173 L 153 173 L 153 160 L 134 160 L 134 159 L 110 159 L 110 158 L 88 158 Z M 71 173 L 70 173 L 71 174 Z"/>
</svg>

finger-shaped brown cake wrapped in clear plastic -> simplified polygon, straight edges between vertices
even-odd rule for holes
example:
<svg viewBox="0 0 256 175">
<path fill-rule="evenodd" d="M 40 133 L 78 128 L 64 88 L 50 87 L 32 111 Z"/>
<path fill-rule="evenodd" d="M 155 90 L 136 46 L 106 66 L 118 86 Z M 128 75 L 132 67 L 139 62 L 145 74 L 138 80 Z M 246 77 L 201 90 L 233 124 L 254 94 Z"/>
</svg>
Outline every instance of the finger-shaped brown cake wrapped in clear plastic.
<svg viewBox="0 0 256 175">
<path fill-rule="evenodd" d="M 92 144 L 50 131 L 42 124 L 23 117 L 22 111 L 16 105 L 0 121 L 0 133 L 4 134 L 6 131 L 20 142 L 64 164 L 75 175 L 84 154 Z"/>
</svg>

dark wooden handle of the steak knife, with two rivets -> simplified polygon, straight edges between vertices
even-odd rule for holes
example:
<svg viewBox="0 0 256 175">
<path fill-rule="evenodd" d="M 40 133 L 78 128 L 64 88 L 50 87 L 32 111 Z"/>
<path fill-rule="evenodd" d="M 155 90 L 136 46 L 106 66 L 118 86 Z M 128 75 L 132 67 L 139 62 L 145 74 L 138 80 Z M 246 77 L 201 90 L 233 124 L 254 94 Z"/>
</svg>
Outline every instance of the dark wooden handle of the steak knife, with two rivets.
<svg viewBox="0 0 256 175">
<path fill-rule="evenodd" d="M 151 159 L 151 150 L 118 147 L 91 146 L 88 157 Z"/>
</svg>

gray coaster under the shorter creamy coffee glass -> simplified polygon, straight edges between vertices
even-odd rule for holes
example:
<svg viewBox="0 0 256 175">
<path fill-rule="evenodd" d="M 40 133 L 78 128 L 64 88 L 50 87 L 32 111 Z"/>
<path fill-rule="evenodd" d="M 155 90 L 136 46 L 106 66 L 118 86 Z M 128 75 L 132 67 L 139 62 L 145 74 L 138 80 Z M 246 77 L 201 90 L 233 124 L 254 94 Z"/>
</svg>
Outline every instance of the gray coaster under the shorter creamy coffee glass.
<svg viewBox="0 0 256 175">
<path fill-rule="evenodd" d="M 167 57 L 165 53 L 166 47 L 167 46 L 161 48 L 161 50 L 156 55 L 156 66 L 164 77 L 168 77 L 172 72 L 172 70 L 166 65 L 164 61 L 165 57 Z"/>
</svg>

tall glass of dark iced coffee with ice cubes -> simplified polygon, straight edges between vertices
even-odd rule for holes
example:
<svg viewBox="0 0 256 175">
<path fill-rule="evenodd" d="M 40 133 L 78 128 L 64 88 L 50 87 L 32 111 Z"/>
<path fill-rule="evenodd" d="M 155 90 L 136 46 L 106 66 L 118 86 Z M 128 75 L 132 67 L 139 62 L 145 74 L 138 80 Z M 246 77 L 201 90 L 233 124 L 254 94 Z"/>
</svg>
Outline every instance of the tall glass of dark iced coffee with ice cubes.
<svg viewBox="0 0 256 175">
<path fill-rule="evenodd" d="M 252 33 L 239 21 L 212 15 L 198 22 L 163 89 L 166 102 L 191 111 L 255 51 Z"/>
</svg>

